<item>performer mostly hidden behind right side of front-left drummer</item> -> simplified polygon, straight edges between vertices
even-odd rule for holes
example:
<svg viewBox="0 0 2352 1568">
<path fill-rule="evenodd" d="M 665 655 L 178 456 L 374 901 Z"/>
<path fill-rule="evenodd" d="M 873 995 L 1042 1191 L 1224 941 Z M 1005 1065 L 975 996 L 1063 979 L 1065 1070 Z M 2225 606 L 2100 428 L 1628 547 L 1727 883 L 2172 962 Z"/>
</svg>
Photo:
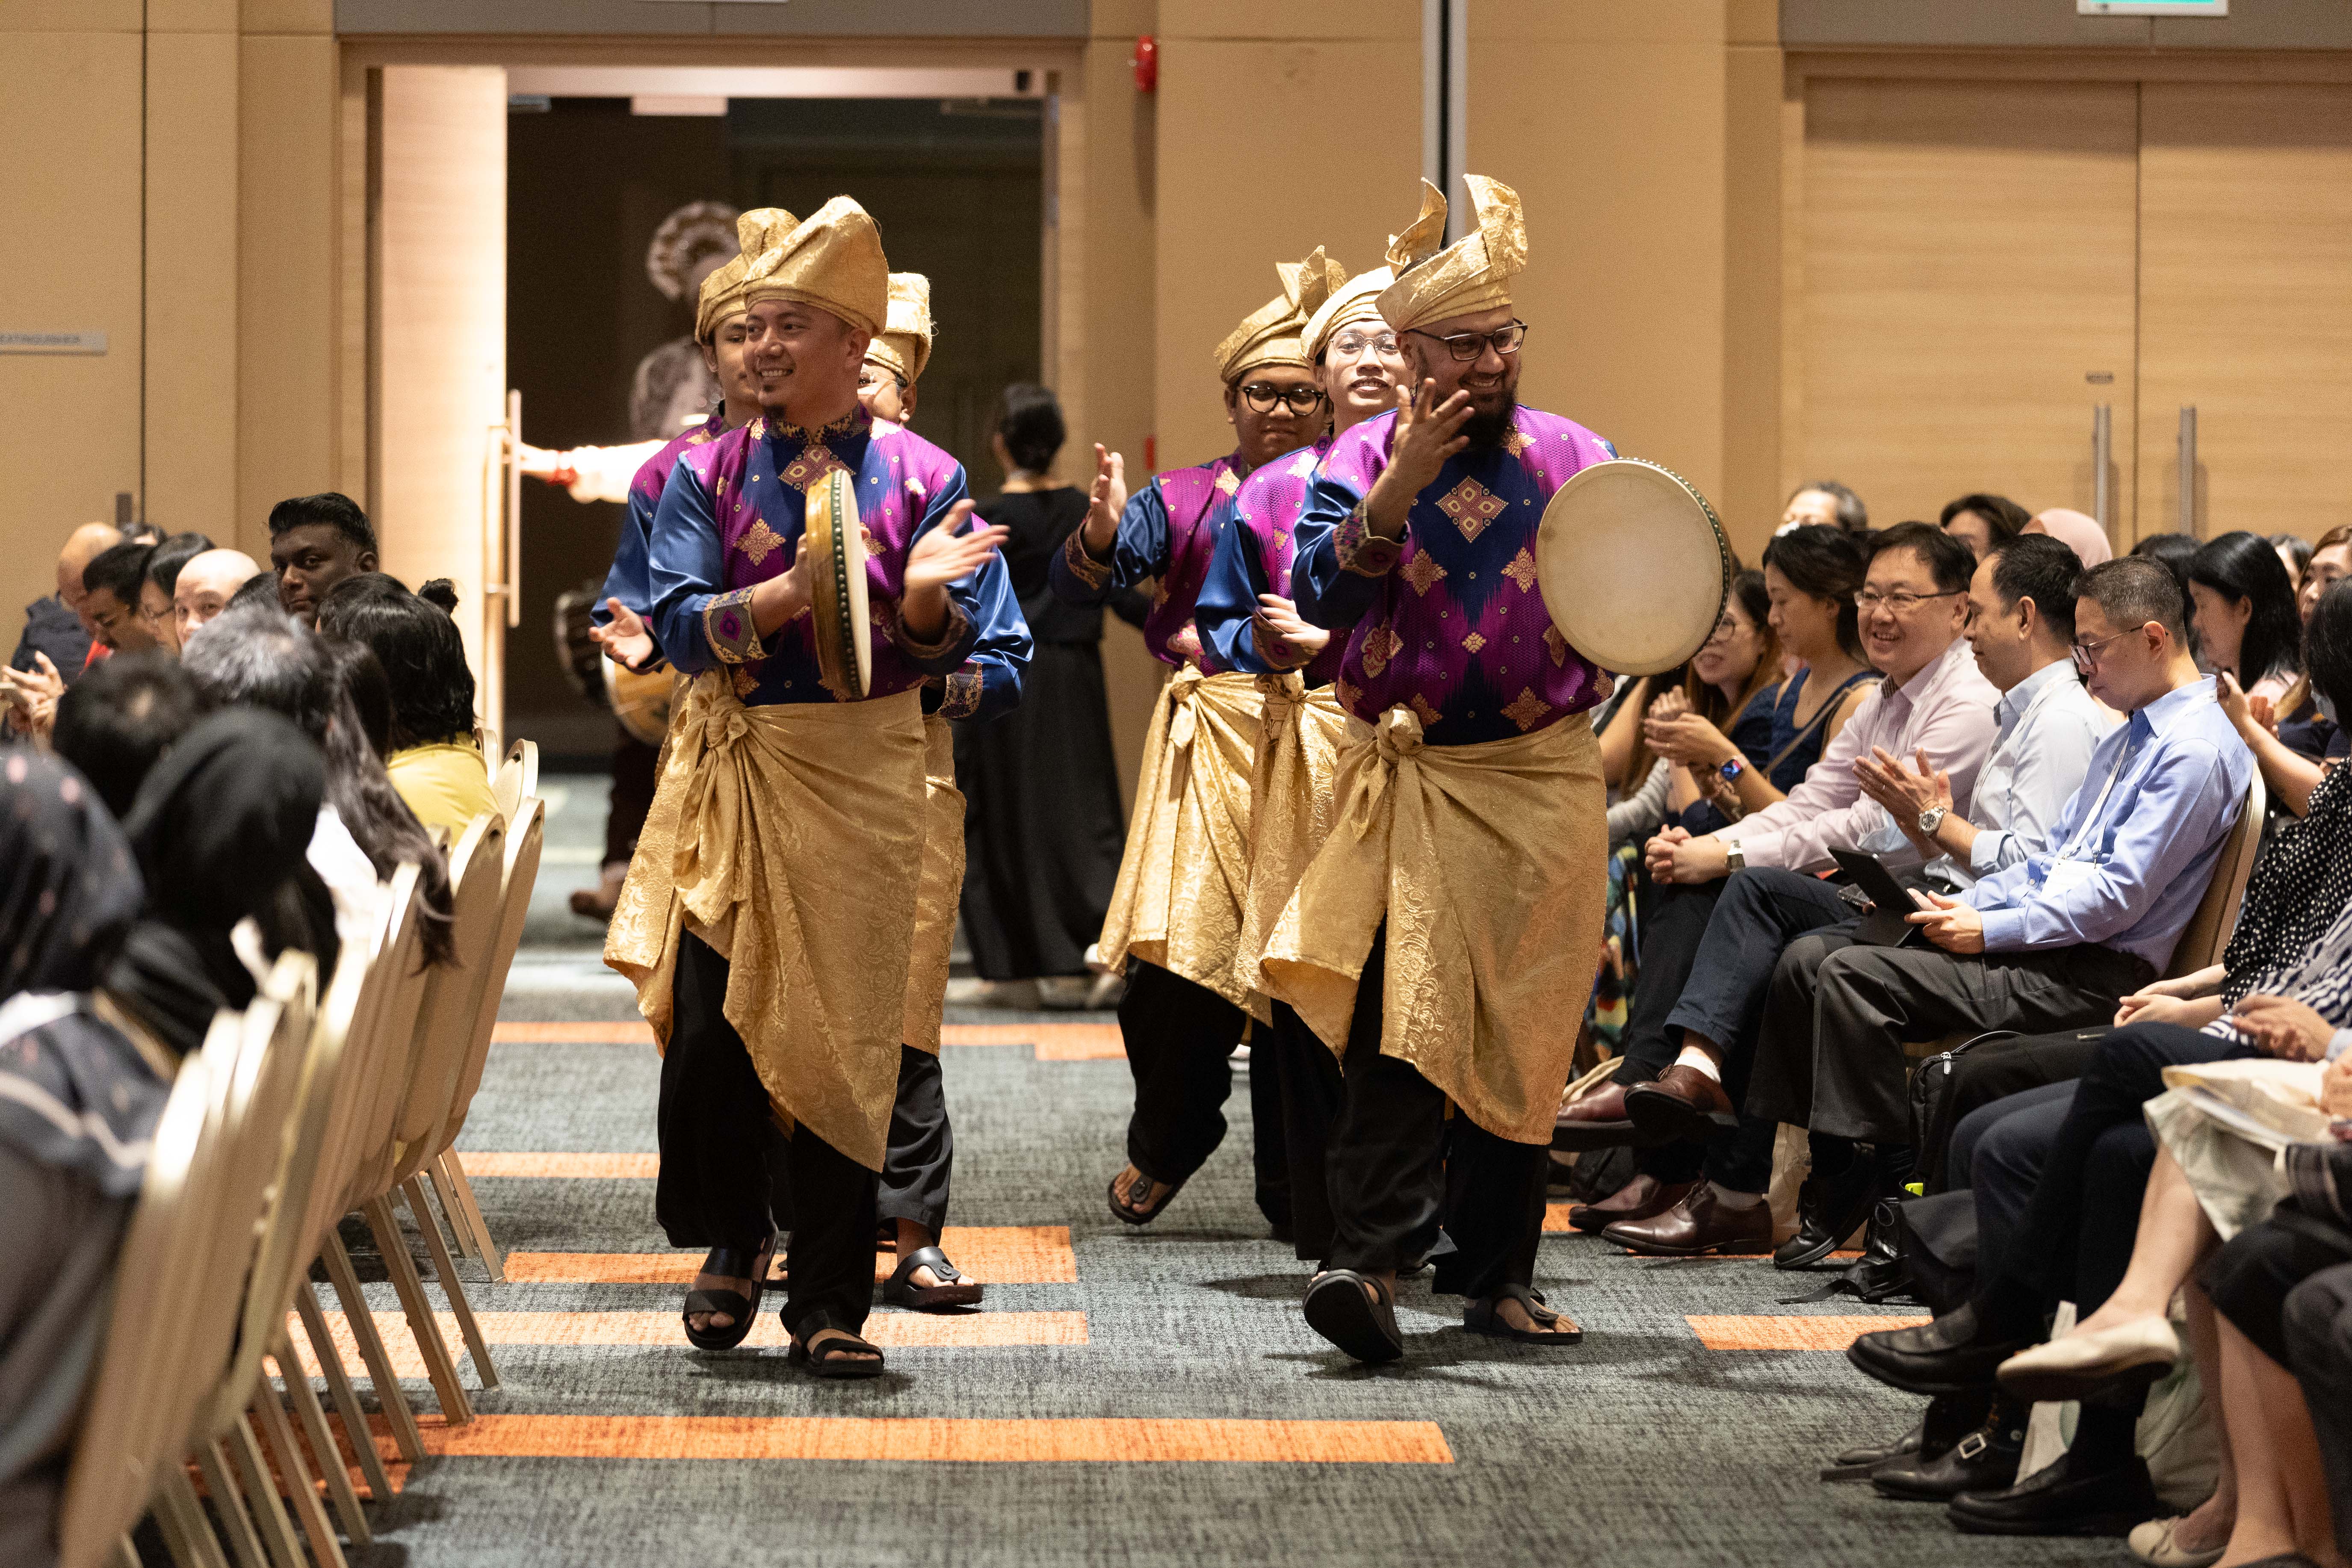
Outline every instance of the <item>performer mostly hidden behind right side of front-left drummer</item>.
<svg viewBox="0 0 2352 1568">
<path fill-rule="evenodd" d="M 915 388 L 931 362 L 931 280 L 889 275 L 889 320 L 858 367 L 858 402 L 877 421 L 910 425 Z M 938 1074 L 938 1020 L 948 1001 L 955 907 L 964 889 L 964 795 L 955 788 L 955 733 L 948 719 L 995 719 L 1021 701 L 1030 637 L 1002 557 L 974 578 L 981 639 L 964 665 L 922 682 L 924 827 L 922 891 L 915 900 L 915 952 L 906 971 L 906 1023 L 898 1030 L 898 1103 L 882 1157 L 880 1244 L 898 1267 L 882 1286 L 896 1307 L 974 1307 L 981 1286 L 938 1248 L 948 1225 L 955 1128 Z"/>
</svg>

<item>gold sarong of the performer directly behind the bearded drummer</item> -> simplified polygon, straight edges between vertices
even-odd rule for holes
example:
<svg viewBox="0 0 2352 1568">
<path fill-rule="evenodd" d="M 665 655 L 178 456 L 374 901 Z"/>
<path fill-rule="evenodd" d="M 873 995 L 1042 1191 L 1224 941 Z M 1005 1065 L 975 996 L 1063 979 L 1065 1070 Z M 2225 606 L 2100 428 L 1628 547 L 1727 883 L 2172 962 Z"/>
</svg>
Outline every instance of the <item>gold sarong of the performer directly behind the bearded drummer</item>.
<svg viewBox="0 0 2352 1568">
<path fill-rule="evenodd" d="M 1331 773 L 1338 769 L 1348 710 L 1331 686 L 1305 689 L 1296 672 L 1261 675 L 1265 724 L 1258 731 L 1258 766 L 1249 778 L 1249 898 L 1242 903 L 1242 936 L 1232 947 L 1232 980 L 1249 987 L 1249 1016 L 1272 1020 L 1258 990 L 1265 938 L 1282 919 L 1308 860 L 1331 832 Z"/>
</svg>

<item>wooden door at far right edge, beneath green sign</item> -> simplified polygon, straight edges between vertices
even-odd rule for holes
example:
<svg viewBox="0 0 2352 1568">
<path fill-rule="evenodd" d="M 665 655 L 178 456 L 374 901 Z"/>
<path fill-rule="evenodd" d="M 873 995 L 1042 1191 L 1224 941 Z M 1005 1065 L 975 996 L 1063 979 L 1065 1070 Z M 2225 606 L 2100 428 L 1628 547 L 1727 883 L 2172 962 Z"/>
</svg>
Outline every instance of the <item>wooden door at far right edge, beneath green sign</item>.
<svg viewBox="0 0 2352 1568">
<path fill-rule="evenodd" d="M 2352 522 L 2352 87 L 2147 82 L 2140 118 L 2140 531 Z"/>
</svg>

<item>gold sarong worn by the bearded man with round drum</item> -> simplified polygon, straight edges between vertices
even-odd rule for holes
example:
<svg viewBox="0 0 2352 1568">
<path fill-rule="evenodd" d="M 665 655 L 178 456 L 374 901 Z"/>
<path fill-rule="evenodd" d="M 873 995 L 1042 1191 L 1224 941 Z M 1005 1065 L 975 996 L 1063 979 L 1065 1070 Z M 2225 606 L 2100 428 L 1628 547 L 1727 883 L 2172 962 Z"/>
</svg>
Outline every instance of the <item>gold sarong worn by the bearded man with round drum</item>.
<svg viewBox="0 0 2352 1568">
<path fill-rule="evenodd" d="M 1599 741 L 1571 715 L 1526 736 L 1423 745 L 1390 708 L 1348 719 L 1331 837 L 1265 943 L 1261 987 L 1348 1051 L 1388 922 L 1381 1056 L 1465 1117 L 1550 1143 L 1602 947 L 1609 816 Z"/>
</svg>

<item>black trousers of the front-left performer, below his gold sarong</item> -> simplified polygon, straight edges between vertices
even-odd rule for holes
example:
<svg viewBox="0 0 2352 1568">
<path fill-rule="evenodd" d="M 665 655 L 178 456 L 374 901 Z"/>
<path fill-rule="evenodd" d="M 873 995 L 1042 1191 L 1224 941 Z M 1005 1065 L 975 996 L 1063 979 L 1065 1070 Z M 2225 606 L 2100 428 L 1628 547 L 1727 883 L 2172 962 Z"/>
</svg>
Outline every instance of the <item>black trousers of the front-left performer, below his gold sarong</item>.
<svg viewBox="0 0 2352 1568">
<path fill-rule="evenodd" d="M 670 1246 L 755 1251 L 769 1234 L 771 1161 L 793 1190 L 793 1333 L 816 1314 L 856 1331 L 875 1288 L 877 1175 L 807 1126 L 776 1135 L 767 1086 L 727 1023 L 727 959 L 694 933 L 677 943 L 670 1048 L 661 1056 L 661 1178 L 654 1218 Z"/>
</svg>

